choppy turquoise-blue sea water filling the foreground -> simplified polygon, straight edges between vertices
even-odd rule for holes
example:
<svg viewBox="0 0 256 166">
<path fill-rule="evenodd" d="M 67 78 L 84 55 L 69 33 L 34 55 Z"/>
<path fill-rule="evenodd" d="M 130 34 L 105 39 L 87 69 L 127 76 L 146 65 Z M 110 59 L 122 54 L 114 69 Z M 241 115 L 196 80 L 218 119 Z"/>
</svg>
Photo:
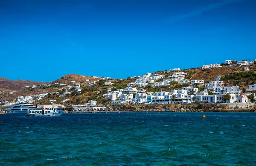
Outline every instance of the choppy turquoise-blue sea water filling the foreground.
<svg viewBox="0 0 256 166">
<path fill-rule="evenodd" d="M 0 115 L 0 124 L 3 166 L 256 165 L 256 113 Z"/>
</svg>

